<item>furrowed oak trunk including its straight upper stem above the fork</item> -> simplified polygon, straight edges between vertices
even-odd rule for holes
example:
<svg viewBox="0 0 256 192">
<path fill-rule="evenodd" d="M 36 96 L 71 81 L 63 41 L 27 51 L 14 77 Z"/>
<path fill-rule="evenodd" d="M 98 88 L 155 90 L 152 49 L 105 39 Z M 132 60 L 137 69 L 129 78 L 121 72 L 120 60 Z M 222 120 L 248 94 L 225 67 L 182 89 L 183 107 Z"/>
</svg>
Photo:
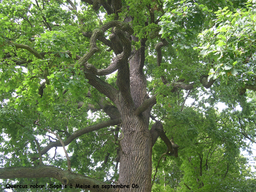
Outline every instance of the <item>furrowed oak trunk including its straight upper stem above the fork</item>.
<svg viewBox="0 0 256 192">
<path fill-rule="evenodd" d="M 138 38 L 132 36 L 138 41 Z M 130 188 L 120 189 L 119 192 L 150 192 L 152 175 L 152 138 L 148 130 L 150 109 L 136 115 L 134 111 L 146 100 L 146 77 L 143 73 L 144 44 L 140 50 L 133 50 L 130 59 L 130 94 L 134 106 L 121 104 L 119 111 L 122 118 L 124 138 L 120 141 L 121 156 L 118 183 L 129 185 Z M 138 188 L 136 188 L 138 186 Z M 132 188 L 135 187 L 135 188 Z"/>
</svg>

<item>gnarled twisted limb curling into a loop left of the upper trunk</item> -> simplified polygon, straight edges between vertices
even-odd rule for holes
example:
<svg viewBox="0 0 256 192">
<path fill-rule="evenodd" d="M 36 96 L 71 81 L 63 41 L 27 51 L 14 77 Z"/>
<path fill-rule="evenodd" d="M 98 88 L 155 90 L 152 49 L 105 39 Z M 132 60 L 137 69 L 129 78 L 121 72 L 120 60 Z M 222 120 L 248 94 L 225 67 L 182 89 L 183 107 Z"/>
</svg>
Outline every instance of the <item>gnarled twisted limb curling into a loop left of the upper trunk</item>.
<svg viewBox="0 0 256 192">
<path fill-rule="evenodd" d="M 109 89 L 102 90 L 102 88 L 100 88 L 100 85 L 97 86 L 96 84 L 97 82 L 95 81 L 92 82 L 93 73 L 99 74 L 100 70 L 97 70 L 94 66 L 88 65 L 86 63 L 94 53 L 99 51 L 99 48 L 96 45 L 96 40 L 98 39 L 98 37 L 102 36 L 102 34 L 104 34 L 106 30 L 113 27 L 114 27 L 114 33 L 118 36 L 123 46 L 123 51 L 121 54 L 118 54 L 113 59 L 114 60 L 113 63 L 107 69 L 103 70 L 106 72 L 103 74 L 108 74 L 109 72 L 113 72 L 116 69 L 118 69 L 118 77 L 117 77 L 116 84 L 120 90 L 122 98 L 124 98 L 124 100 L 128 105 L 132 105 L 133 101 L 130 95 L 130 74 L 129 74 L 128 57 L 130 56 L 130 52 L 131 52 L 131 40 L 129 36 L 133 33 L 133 30 L 129 24 L 120 22 L 120 21 L 111 21 L 104 24 L 100 29 L 95 29 L 92 32 L 92 36 L 90 38 L 89 52 L 86 53 L 78 62 L 80 64 L 84 64 L 85 71 L 92 70 L 92 72 L 87 72 L 87 73 L 85 72 L 86 78 L 89 79 L 89 83 L 92 86 L 94 86 L 96 89 L 98 89 L 100 92 L 108 96 L 114 102 L 115 99 L 113 97 L 118 94 L 115 94 L 115 95 L 110 94 Z M 96 78 L 94 78 L 94 80 L 96 80 Z M 106 83 L 104 85 L 106 85 Z M 110 85 L 108 85 L 108 87 L 110 87 Z M 114 88 L 112 87 L 111 90 L 113 89 Z"/>
</svg>

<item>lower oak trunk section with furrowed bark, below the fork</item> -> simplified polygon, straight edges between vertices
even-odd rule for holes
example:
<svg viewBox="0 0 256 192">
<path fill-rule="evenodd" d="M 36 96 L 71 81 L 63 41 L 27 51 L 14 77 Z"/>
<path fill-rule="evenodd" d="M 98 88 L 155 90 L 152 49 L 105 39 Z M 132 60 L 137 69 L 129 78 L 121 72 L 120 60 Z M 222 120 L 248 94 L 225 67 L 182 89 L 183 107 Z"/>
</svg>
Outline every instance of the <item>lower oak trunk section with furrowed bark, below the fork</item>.
<svg viewBox="0 0 256 192">
<path fill-rule="evenodd" d="M 150 192 L 152 174 L 152 139 L 144 116 L 130 115 L 123 122 L 124 138 L 121 141 L 121 158 L 119 168 L 120 184 L 130 188 L 120 192 Z M 138 188 L 132 188 L 134 186 Z"/>
</svg>

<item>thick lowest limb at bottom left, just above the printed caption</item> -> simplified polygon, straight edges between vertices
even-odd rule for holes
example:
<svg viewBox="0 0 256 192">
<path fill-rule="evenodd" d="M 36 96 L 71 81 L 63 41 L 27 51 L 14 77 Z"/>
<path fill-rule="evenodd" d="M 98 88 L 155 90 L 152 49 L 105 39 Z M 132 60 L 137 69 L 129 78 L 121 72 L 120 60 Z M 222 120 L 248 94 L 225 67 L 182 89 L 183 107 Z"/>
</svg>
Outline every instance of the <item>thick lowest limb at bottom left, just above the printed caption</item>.
<svg viewBox="0 0 256 192">
<path fill-rule="evenodd" d="M 55 166 L 40 165 L 36 167 L 13 167 L 13 168 L 0 168 L 0 179 L 12 179 L 12 178 L 45 178 L 51 177 L 59 180 L 64 185 L 72 185 L 73 188 L 76 184 L 90 185 L 90 191 L 92 192 L 114 192 L 114 189 L 101 188 L 102 185 L 106 185 L 94 178 L 90 178 L 81 174 L 72 173 L 67 170 Z M 93 188 L 94 185 L 98 185 L 99 188 Z M 69 188 L 69 187 L 68 187 Z"/>
</svg>

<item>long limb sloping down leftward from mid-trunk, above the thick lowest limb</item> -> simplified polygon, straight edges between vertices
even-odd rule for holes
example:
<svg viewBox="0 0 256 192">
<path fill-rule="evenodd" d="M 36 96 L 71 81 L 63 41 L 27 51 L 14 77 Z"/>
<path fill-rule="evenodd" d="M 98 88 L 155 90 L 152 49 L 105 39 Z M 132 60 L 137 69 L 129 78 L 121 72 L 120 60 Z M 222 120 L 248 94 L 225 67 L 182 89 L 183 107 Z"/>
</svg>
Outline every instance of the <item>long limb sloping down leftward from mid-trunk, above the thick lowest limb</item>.
<svg viewBox="0 0 256 192">
<path fill-rule="evenodd" d="M 82 136 L 83 134 L 86 134 L 88 132 L 92 132 L 92 131 L 96 131 L 99 129 L 102 129 L 104 127 L 107 126 L 114 126 L 114 125 L 118 125 L 121 123 L 121 119 L 114 119 L 114 120 L 108 120 L 106 122 L 101 122 L 98 123 L 96 125 L 92 125 L 92 126 L 88 126 L 86 128 L 77 130 L 76 132 L 74 132 L 72 135 L 70 135 L 65 141 L 64 144 L 65 146 L 70 144 L 74 139 L 78 138 L 79 136 Z M 51 148 L 53 147 L 61 147 L 61 143 L 60 142 L 50 142 L 45 148 L 43 148 L 41 150 L 41 155 L 46 154 L 46 152 L 48 152 Z"/>
</svg>

